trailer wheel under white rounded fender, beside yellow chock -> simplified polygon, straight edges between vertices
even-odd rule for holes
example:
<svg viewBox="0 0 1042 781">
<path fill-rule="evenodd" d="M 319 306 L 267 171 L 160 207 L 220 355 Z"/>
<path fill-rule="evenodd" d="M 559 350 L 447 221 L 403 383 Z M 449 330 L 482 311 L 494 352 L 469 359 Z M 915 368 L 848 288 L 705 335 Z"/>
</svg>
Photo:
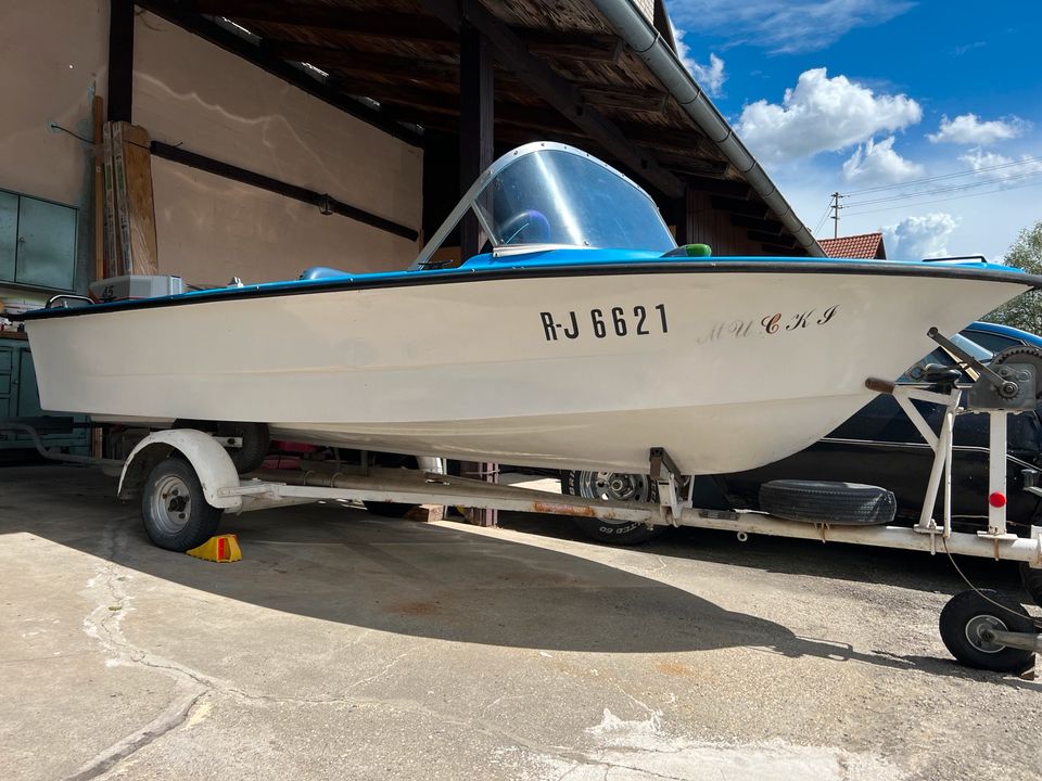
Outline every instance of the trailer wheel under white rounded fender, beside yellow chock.
<svg viewBox="0 0 1042 781">
<path fill-rule="evenodd" d="M 183 459 L 161 461 L 144 482 L 141 516 L 160 548 L 182 553 L 198 548 L 214 536 L 220 513 L 206 503 L 195 470 Z"/>
</svg>

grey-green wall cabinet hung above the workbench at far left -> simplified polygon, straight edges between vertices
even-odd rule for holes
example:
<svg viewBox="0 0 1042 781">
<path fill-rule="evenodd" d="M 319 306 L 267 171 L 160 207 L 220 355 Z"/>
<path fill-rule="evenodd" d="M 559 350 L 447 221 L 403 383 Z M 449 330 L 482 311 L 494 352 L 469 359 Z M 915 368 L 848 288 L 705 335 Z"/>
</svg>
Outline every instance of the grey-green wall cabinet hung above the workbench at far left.
<svg viewBox="0 0 1042 781">
<path fill-rule="evenodd" d="M 76 209 L 0 191 L 0 284 L 72 290 Z"/>
</svg>

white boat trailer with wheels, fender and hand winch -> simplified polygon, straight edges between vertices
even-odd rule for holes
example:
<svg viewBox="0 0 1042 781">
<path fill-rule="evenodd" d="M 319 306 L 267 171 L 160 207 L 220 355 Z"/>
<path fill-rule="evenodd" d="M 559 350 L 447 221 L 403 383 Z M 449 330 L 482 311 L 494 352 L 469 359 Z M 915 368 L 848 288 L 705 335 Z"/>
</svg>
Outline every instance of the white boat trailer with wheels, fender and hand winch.
<svg viewBox="0 0 1042 781">
<path fill-rule="evenodd" d="M 955 355 L 962 353 L 936 332 L 930 335 Z M 763 512 L 696 508 L 694 481 L 684 478 L 662 448 L 649 449 L 649 473 L 658 486 L 660 501 L 647 503 L 562 496 L 450 476 L 440 468 L 439 459 L 421 459 L 421 468 L 427 469 L 383 469 L 368 466 L 363 454 L 358 466 L 260 470 L 240 476 L 227 448 L 241 447 L 242 443 L 192 428 L 158 431 L 144 437 L 123 462 L 118 495 L 122 499 L 143 497 L 142 514 L 150 537 L 162 547 L 181 551 L 208 539 L 223 512 L 321 500 L 443 504 L 630 521 L 649 526 L 694 526 L 734 532 L 742 541 L 749 535 L 761 534 L 1015 561 L 1021 564 L 1032 598 L 1042 603 L 1042 526 L 1032 526 L 1028 537 L 1012 534 L 1006 526 L 1005 509 L 1006 418 L 1033 409 L 1042 397 L 1042 357 L 1033 362 L 1007 362 L 994 371 L 971 356 L 961 357 L 979 377 L 969 387 L 956 385 L 951 372 L 928 387 L 894 385 L 876 379 L 865 382 L 877 393 L 891 394 L 935 451 L 923 512 L 912 527 L 811 523 Z M 943 407 L 940 433 L 933 432 L 913 400 Z M 955 417 L 964 413 L 990 417 L 988 528 L 976 534 L 952 529 L 952 430 Z M 8 426 L 0 422 L 2 427 Z M 49 458 L 74 460 L 45 450 L 38 438 L 36 443 Z M 102 465 L 112 471 L 113 462 L 104 460 Z M 1026 490 L 1042 496 L 1038 476 L 1025 475 Z M 943 500 L 940 523 L 932 517 L 939 495 Z M 193 529 L 194 536 L 183 534 Z M 204 529 L 203 538 L 199 529 Z M 1003 673 L 1031 668 L 1034 653 L 1042 651 L 1039 630 L 1040 623 L 1018 602 L 987 589 L 971 588 L 956 594 L 940 618 L 941 637 L 956 658 L 973 667 Z"/>
</svg>

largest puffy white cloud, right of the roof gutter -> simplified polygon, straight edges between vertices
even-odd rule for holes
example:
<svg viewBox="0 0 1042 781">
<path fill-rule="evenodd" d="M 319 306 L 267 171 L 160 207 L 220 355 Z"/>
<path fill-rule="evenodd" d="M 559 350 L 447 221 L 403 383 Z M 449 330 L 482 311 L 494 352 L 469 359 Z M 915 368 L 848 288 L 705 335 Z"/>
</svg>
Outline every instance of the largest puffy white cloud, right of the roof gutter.
<svg viewBox="0 0 1042 781">
<path fill-rule="evenodd" d="M 738 135 L 762 159 L 783 162 L 867 141 L 923 118 L 919 104 L 903 94 L 876 95 L 825 68 L 800 74 L 782 104 L 760 100 L 741 111 Z"/>
</svg>

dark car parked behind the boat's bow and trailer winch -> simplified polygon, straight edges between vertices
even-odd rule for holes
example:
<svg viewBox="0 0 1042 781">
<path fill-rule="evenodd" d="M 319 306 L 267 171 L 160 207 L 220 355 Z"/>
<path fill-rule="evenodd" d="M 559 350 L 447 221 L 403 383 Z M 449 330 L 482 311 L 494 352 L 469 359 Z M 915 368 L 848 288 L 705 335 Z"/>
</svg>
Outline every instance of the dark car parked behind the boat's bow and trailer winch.
<svg viewBox="0 0 1042 781">
<path fill-rule="evenodd" d="M 955 341 L 975 357 L 987 362 L 992 354 L 1017 346 L 1042 347 L 1042 338 L 991 323 L 974 323 Z M 983 343 L 987 343 L 984 345 Z M 953 366 L 955 356 L 938 347 L 913 366 L 899 382 L 916 382 L 928 363 Z M 974 377 L 964 375 L 965 382 Z M 935 432 L 939 432 L 943 408 L 915 401 Z M 962 414 L 955 420 L 952 466 L 953 524 L 980 528 L 988 517 L 988 436 L 987 414 Z M 1040 410 L 1008 417 L 1008 458 L 1006 483 L 1007 522 L 1011 530 L 1026 534 L 1042 518 L 1042 499 L 1024 490 L 1024 470 L 1042 470 L 1042 418 Z M 916 431 L 892 396 L 877 396 L 828 436 L 793 456 L 766 466 L 698 477 L 695 504 L 710 509 L 759 510 L 760 486 L 775 479 L 837 481 L 864 483 L 893 491 L 898 517 L 917 520 L 933 450 Z M 582 496 L 648 499 L 651 486 L 643 475 L 570 472 L 562 475 L 562 489 Z M 625 496 L 617 496 L 624 494 Z M 940 517 L 938 500 L 935 517 Z M 643 525 L 586 524 L 584 530 L 603 541 L 633 545 L 649 537 Z"/>
</svg>

